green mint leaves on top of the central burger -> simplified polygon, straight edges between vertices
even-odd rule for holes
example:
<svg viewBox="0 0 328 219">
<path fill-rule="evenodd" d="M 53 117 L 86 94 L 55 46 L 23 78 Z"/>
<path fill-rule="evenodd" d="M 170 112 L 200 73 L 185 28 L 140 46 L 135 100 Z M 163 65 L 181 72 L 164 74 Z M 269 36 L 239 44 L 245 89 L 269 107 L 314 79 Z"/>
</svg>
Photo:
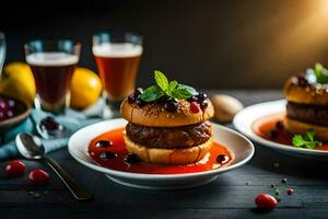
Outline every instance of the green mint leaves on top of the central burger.
<svg viewBox="0 0 328 219">
<path fill-rule="evenodd" d="M 161 71 L 156 70 L 154 72 L 154 78 L 156 84 L 149 87 L 140 95 L 140 99 L 144 102 L 156 101 L 163 96 L 167 99 L 181 100 L 189 99 L 190 96 L 198 94 L 198 92 L 189 85 L 180 84 L 175 80 L 168 82 L 166 76 Z"/>
</svg>

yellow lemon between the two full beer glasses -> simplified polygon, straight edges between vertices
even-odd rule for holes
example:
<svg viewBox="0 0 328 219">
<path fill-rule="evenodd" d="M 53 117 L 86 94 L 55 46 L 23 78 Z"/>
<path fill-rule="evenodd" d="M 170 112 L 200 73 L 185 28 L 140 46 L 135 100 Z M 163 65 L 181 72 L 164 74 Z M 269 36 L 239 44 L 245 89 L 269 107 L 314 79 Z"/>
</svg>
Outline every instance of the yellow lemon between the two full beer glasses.
<svg viewBox="0 0 328 219">
<path fill-rule="evenodd" d="M 83 110 L 94 104 L 102 93 L 102 81 L 90 69 L 77 68 L 71 80 L 71 102 L 75 110 Z"/>
</svg>

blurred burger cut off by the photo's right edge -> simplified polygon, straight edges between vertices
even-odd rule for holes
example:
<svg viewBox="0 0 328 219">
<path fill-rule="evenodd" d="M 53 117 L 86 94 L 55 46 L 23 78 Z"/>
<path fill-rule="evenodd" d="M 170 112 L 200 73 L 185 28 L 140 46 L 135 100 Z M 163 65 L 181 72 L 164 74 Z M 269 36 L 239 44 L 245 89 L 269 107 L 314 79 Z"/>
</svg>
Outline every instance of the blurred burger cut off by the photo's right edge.
<svg viewBox="0 0 328 219">
<path fill-rule="evenodd" d="M 291 77 L 284 85 L 288 100 L 285 128 L 292 134 L 315 131 L 328 141 L 328 71 L 316 65 L 307 73 Z"/>
</svg>

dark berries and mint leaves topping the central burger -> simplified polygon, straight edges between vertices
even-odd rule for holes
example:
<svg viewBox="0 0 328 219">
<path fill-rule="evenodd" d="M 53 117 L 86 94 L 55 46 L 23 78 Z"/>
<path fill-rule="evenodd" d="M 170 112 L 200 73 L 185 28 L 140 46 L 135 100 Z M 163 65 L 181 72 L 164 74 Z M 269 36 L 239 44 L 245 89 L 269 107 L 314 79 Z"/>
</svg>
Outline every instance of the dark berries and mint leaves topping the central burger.
<svg viewBox="0 0 328 219">
<path fill-rule="evenodd" d="M 179 100 L 186 100 L 190 104 L 196 103 L 202 111 L 208 107 L 209 100 L 207 94 L 198 93 L 192 87 L 178 83 L 175 80 L 168 81 L 161 71 L 154 72 L 154 79 L 156 84 L 149 87 L 144 91 L 137 89 L 134 93 L 128 96 L 128 102 L 137 104 L 139 107 L 148 103 L 161 104 L 169 113 L 178 110 Z"/>
</svg>

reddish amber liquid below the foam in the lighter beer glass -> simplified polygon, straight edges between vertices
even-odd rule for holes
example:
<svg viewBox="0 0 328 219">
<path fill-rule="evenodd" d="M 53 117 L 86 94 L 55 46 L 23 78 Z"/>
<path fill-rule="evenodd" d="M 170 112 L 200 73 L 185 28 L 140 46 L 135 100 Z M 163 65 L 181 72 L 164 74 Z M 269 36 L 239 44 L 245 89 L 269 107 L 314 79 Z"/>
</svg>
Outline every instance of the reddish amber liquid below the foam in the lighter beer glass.
<svg viewBox="0 0 328 219">
<path fill-rule="evenodd" d="M 139 56 L 95 56 L 99 76 L 109 101 L 121 101 L 134 90 Z"/>
</svg>

